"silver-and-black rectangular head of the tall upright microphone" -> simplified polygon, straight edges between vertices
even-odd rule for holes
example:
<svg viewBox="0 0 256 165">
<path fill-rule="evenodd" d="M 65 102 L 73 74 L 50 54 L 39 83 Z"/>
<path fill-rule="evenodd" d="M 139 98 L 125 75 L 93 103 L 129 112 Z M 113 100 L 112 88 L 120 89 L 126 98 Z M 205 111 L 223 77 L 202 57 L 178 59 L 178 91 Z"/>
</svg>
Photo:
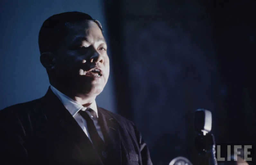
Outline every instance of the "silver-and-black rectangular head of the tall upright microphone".
<svg viewBox="0 0 256 165">
<path fill-rule="evenodd" d="M 197 109 L 195 112 L 195 130 L 204 135 L 212 130 L 212 113 L 206 109 Z"/>
</svg>

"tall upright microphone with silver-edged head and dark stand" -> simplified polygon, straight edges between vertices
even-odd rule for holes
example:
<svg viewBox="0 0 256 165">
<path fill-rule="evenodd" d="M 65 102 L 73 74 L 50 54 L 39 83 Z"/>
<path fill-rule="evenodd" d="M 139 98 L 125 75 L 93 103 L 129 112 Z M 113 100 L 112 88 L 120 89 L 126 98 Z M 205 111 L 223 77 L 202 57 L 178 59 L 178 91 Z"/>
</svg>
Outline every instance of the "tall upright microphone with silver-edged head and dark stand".
<svg viewBox="0 0 256 165">
<path fill-rule="evenodd" d="M 212 113 L 206 109 L 197 109 L 195 112 L 195 147 L 199 154 L 206 155 L 209 165 L 217 165 L 215 157 L 215 139 L 210 133 L 212 130 Z"/>
</svg>

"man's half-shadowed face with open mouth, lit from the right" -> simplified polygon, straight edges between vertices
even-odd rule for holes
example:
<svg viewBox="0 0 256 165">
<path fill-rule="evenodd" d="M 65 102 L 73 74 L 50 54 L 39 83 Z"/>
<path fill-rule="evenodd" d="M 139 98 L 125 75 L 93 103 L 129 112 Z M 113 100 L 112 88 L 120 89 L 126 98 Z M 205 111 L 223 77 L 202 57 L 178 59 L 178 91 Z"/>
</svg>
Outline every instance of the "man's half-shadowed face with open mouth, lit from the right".
<svg viewBox="0 0 256 165">
<path fill-rule="evenodd" d="M 92 21 L 73 23 L 57 51 L 57 83 L 78 94 L 98 95 L 109 76 L 107 45 Z"/>
</svg>

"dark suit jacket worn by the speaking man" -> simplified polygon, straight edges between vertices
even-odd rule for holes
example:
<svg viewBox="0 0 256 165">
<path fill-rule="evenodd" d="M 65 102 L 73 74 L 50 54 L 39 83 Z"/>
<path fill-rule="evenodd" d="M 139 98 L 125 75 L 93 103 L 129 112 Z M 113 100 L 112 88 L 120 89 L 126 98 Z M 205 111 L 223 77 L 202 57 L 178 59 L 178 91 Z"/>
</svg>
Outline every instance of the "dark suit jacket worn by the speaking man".
<svg viewBox="0 0 256 165">
<path fill-rule="evenodd" d="M 111 160 L 107 164 L 152 164 L 148 147 L 131 121 L 98 107 L 98 122 Z M 0 152 L 0 164 L 103 164 L 50 88 L 40 99 L 0 111 Z"/>
</svg>

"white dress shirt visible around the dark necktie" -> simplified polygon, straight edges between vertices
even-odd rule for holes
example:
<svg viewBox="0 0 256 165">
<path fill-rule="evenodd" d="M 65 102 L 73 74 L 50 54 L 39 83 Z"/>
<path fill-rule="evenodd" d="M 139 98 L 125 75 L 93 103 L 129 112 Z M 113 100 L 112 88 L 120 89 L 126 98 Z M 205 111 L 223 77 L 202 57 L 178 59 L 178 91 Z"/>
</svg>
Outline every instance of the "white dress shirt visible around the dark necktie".
<svg viewBox="0 0 256 165">
<path fill-rule="evenodd" d="M 96 117 L 98 118 L 98 110 L 97 110 L 97 106 L 96 106 L 96 102 L 95 100 L 91 103 L 91 105 L 89 107 L 84 107 L 82 106 L 80 103 L 78 103 L 77 101 L 71 99 L 69 96 L 61 93 L 59 90 L 57 90 L 56 88 L 54 88 L 52 85 L 50 85 L 51 90 L 53 91 L 53 93 L 59 98 L 59 100 L 62 102 L 62 104 L 64 105 L 64 107 L 71 113 L 71 115 L 75 118 L 75 120 L 78 122 L 79 126 L 83 129 L 83 131 L 85 132 L 85 134 L 88 136 L 88 138 L 91 140 L 90 135 L 88 134 L 88 128 L 87 128 L 87 122 L 86 120 L 78 113 L 79 110 L 86 110 L 87 108 L 91 108 L 92 110 L 94 110 L 96 112 Z M 104 141 L 104 137 L 102 134 L 102 131 L 100 129 L 100 126 L 97 122 L 97 120 L 93 120 L 94 124 L 96 126 L 97 132 L 99 134 L 99 136 L 101 137 L 101 139 Z"/>
</svg>

